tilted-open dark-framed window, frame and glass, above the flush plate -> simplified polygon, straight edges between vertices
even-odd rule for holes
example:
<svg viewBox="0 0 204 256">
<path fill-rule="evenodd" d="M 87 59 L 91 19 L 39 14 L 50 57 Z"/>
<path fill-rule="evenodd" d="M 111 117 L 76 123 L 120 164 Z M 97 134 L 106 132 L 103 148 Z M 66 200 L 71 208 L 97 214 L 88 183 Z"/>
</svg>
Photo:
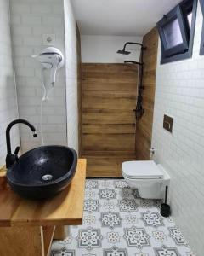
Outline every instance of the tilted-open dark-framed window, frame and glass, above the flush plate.
<svg viewBox="0 0 204 256">
<path fill-rule="evenodd" d="M 184 0 L 157 23 L 161 64 L 192 56 L 196 6 L 197 0 Z"/>
</svg>

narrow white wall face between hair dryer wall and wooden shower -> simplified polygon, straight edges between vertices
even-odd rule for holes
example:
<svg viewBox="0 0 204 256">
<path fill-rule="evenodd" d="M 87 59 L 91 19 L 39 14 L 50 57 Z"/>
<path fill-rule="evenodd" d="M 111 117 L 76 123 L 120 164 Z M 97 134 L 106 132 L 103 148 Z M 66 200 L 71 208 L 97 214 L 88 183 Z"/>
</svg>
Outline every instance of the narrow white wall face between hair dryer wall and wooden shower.
<svg viewBox="0 0 204 256">
<path fill-rule="evenodd" d="M 68 146 L 78 151 L 77 24 L 71 1 L 65 0 L 65 61 Z"/>
</svg>

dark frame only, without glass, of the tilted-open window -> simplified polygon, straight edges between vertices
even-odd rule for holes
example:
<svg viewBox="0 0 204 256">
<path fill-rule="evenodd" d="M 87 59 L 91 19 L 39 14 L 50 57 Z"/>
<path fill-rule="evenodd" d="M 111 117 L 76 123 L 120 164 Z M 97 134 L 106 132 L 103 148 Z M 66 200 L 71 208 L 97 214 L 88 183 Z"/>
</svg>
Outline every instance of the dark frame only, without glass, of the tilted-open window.
<svg viewBox="0 0 204 256">
<path fill-rule="evenodd" d="M 192 6 L 191 26 L 189 26 L 187 13 L 185 14 L 188 6 L 189 7 Z M 178 11 L 178 9 L 180 10 L 180 12 Z M 164 17 L 159 22 L 157 22 L 157 28 L 161 38 L 161 64 L 189 59 L 192 56 L 194 35 L 195 35 L 196 9 L 197 9 L 197 0 L 192 0 L 192 4 L 190 0 L 184 0 L 181 3 L 179 3 L 176 7 L 174 7 L 167 15 L 164 15 Z M 182 18 L 180 17 L 180 15 Z M 187 49 L 184 49 L 184 47 L 178 48 L 179 46 L 178 44 L 172 48 L 173 49 L 172 51 L 167 52 L 165 38 L 164 38 L 165 35 L 164 35 L 164 32 L 162 31 L 162 27 L 167 25 L 167 23 L 169 22 L 172 16 L 173 16 L 172 20 L 175 18 L 178 18 L 178 23 L 180 26 L 184 45 L 186 46 L 186 41 L 184 41 L 184 37 L 185 37 L 187 40 L 188 47 Z M 182 25 L 180 25 L 181 23 Z M 204 32 L 203 32 L 203 37 L 204 37 Z"/>
</svg>

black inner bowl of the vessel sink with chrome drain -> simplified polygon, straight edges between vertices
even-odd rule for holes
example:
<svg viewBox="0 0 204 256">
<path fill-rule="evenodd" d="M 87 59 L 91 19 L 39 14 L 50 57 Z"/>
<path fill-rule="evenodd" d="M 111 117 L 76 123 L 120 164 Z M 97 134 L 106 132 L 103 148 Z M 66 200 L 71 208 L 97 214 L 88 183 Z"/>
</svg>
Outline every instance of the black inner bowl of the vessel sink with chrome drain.
<svg viewBox="0 0 204 256">
<path fill-rule="evenodd" d="M 26 186 L 42 186 L 60 181 L 71 176 L 71 166 L 74 161 L 73 152 L 62 146 L 45 146 L 35 148 L 23 154 L 11 168 L 9 177 L 14 183 Z"/>
</svg>

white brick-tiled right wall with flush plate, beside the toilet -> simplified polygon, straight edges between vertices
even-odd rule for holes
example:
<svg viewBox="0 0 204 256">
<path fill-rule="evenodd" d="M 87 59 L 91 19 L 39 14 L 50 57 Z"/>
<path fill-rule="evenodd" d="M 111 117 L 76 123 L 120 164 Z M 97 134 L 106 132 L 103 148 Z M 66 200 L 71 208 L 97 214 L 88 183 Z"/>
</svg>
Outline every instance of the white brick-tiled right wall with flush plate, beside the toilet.
<svg viewBox="0 0 204 256">
<path fill-rule="evenodd" d="M 198 6 L 192 59 L 160 65 L 159 46 L 152 146 L 171 176 L 173 218 L 195 255 L 204 252 L 204 56 L 199 55 L 202 15 Z M 162 128 L 173 117 L 173 133 Z"/>
</svg>

